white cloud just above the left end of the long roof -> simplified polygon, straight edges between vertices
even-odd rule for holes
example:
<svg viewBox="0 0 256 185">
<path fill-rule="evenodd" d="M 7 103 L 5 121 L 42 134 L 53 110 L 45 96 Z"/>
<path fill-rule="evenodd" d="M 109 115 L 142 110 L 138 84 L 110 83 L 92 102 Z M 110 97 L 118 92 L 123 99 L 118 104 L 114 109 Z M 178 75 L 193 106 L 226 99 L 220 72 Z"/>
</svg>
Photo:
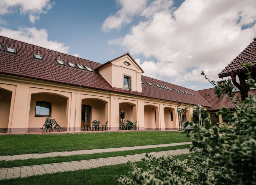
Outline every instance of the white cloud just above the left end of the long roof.
<svg viewBox="0 0 256 185">
<path fill-rule="evenodd" d="M 45 29 L 37 30 L 37 28 L 19 28 L 17 31 L 0 27 L 0 35 L 21 40 L 37 46 L 43 46 L 55 51 L 67 53 L 69 46 L 60 43 L 57 40 L 49 40 Z"/>
</svg>

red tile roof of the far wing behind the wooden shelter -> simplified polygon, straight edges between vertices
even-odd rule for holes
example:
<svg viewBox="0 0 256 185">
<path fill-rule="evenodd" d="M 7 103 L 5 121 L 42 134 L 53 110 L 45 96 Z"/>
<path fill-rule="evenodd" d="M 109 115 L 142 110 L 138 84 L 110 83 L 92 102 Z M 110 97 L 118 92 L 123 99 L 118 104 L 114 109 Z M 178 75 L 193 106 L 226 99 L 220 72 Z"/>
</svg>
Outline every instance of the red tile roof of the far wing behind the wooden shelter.
<svg viewBox="0 0 256 185">
<path fill-rule="evenodd" d="M 217 95 L 213 92 L 213 90 L 214 90 L 214 87 L 210 88 L 210 89 L 204 89 L 204 90 L 197 91 L 211 105 L 211 108 L 209 108 L 208 110 L 219 110 L 223 106 L 225 106 L 229 109 L 234 108 L 234 104 L 228 98 L 226 98 L 224 95 L 221 95 L 220 98 L 217 98 Z M 239 97 L 238 98 L 239 100 L 241 100 L 240 92 L 235 92 L 234 94 L 235 94 L 235 96 Z M 249 94 L 252 94 L 255 96 L 256 91 L 249 90 L 248 95 Z M 240 103 L 238 102 L 237 104 L 239 105 Z"/>
</svg>

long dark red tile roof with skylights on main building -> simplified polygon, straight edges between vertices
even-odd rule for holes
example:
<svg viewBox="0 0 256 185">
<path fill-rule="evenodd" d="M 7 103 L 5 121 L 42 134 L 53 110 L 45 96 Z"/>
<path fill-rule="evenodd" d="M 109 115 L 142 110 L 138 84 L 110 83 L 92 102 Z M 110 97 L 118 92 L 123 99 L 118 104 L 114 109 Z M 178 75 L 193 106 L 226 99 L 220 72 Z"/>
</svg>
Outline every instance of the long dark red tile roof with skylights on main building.
<svg viewBox="0 0 256 185">
<path fill-rule="evenodd" d="M 15 42 L 14 42 L 15 41 Z M 98 72 L 88 72 L 81 69 L 68 67 L 67 61 L 73 64 L 81 64 L 82 66 L 88 66 L 92 70 L 102 66 L 101 63 L 96 63 L 83 58 L 75 57 L 72 55 L 60 53 L 40 46 L 34 46 L 22 41 L 13 40 L 8 37 L 0 36 L 0 45 L 2 51 L 0 51 L 0 73 L 5 75 L 14 75 L 25 78 L 33 78 L 43 81 L 51 81 L 54 83 L 67 84 L 72 86 L 80 86 L 84 88 L 91 88 L 97 90 L 111 91 L 116 93 L 125 93 L 130 95 L 156 98 L 166 101 L 181 102 L 187 104 L 201 104 L 202 106 L 210 107 L 210 104 L 202 98 L 202 96 L 194 90 L 190 90 L 184 87 L 180 87 L 174 84 L 170 84 L 157 79 L 141 76 L 142 82 L 142 93 L 131 92 L 122 89 L 112 88 L 107 81 Z M 13 47 L 16 48 L 17 54 L 6 53 L 5 48 Z M 40 54 L 43 57 L 43 61 L 35 60 L 33 53 L 37 53 L 40 50 Z M 58 65 L 56 59 L 60 55 L 60 59 L 66 62 L 65 66 Z M 175 90 L 169 91 L 149 86 L 145 83 L 147 81 L 153 84 L 155 83 L 167 86 L 171 89 L 175 88 L 178 90 L 185 90 L 191 92 L 195 96 L 178 93 Z"/>
</svg>

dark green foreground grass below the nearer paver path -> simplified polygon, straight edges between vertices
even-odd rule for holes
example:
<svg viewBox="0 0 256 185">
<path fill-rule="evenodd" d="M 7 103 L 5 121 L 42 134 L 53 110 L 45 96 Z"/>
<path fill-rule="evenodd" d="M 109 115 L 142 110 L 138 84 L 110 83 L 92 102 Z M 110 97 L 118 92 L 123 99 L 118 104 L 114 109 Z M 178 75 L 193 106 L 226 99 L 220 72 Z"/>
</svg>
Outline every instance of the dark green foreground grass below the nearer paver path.
<svg viewBox="0 0 256 185">
<path fill-rule="evenodd" d="M 195 155 L 195 154 L 193 154 Z M 175 156 L 181 161 L 186 157 L 185 154 Z M 143 161 L 136 162 L 138 167 L 144 170 L 148 169 Z M 71 172 L 59 172 L 54 174 L 30 176 L 26 178 L 15 178 L 8 180 L 1 180 L 0 184 L 5 185 L 75 185 L 75 184 L 88 184 L 88 185 L 114 185 L 117 184 L 113 179 L 115 175 L 129 175 L 128 171 L 130 166 L 128 164 L 119 164 L 113 166 L 102 166 L 98 168 L 91 168 L 85 170 L 77 170 Z"/>
</svg>

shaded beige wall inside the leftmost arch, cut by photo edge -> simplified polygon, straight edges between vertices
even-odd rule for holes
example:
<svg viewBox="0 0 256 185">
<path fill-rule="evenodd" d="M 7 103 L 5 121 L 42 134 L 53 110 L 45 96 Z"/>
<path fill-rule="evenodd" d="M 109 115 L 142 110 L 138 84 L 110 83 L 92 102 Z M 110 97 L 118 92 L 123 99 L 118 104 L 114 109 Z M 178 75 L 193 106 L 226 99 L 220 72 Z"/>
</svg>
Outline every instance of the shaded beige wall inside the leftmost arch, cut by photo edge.
<svg viewBox="0 0 256 185">
<path fill-rule="evenodd" d="M 12 92 L 0 89 L 0 133 L 7 133 Z"/>
</svg>

